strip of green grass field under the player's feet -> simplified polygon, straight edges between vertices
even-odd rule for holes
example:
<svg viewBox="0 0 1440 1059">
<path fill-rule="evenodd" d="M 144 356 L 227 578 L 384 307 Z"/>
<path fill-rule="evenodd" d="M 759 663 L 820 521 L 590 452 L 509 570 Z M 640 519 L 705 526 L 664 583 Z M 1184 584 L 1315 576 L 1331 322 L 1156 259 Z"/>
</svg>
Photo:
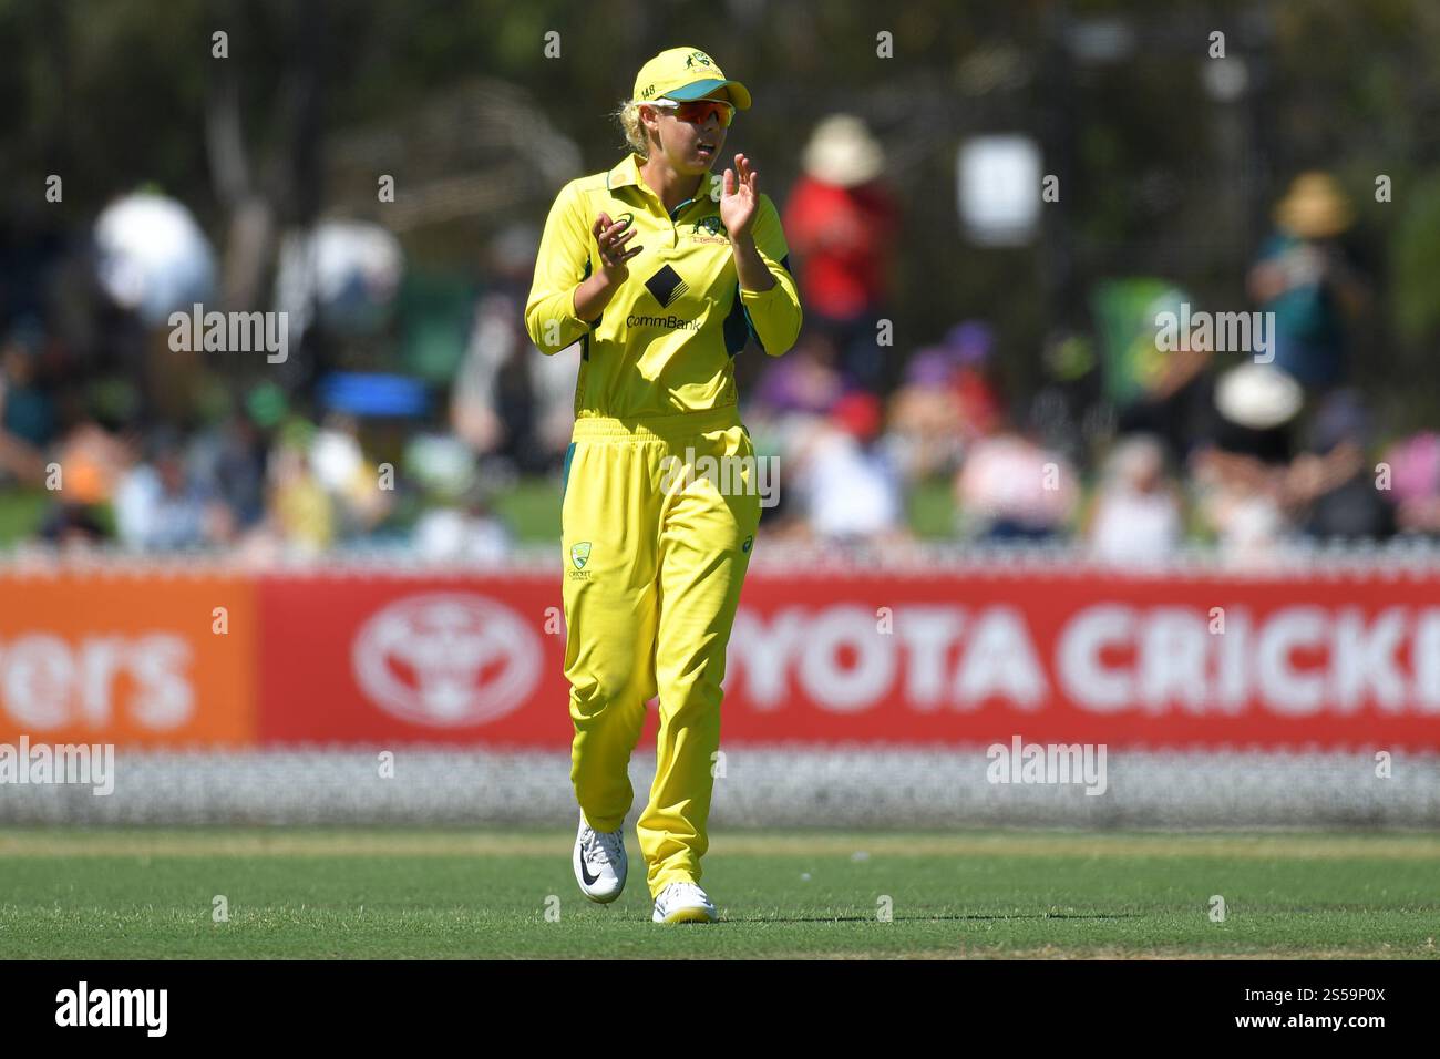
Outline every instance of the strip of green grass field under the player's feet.
<svg viewBox="0 0 1440 1059">
<path fill-rule="evenodd" d="M 0 830 L 0 957 L 1440 955 L 1436 834 L 733 831 L 706 857 L 721 922 L 688 926 L 649 922 L 634 833 L 609 908 L 579 895 L 570 841 Z"/>
</svg>

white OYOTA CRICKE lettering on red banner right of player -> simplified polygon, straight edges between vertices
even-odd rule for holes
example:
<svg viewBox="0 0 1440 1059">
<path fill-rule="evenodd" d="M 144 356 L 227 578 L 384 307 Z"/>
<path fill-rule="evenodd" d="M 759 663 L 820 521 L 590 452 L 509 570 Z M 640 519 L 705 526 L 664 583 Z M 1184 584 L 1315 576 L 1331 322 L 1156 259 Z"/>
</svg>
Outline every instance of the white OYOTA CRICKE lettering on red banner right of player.
<svg viewBox="0 0 1440 1059">
<path fill-rule="evenodd" d="M 1053 644 L 1058 692 L 1083 710 L 1151 716 L 1238 716 L 1251 703 L 1277 716 L 1378 709 L 1440 715 L 1440 608 L 1283 607 L 1264 618 L 1225 604 L 1102 602 L 1070 615 Z M 730 690 L 756 709 L 785 709 L 795 693 L 841 713 L 891 699 L 919 713 L 1001 702 L 1041 710 L 1051 693 L 1025 612 L 943 604 L 894 607 L 896 635 L 877 635 L 858 604 L 742 609 L 730 651 Z"/>
</svg>

